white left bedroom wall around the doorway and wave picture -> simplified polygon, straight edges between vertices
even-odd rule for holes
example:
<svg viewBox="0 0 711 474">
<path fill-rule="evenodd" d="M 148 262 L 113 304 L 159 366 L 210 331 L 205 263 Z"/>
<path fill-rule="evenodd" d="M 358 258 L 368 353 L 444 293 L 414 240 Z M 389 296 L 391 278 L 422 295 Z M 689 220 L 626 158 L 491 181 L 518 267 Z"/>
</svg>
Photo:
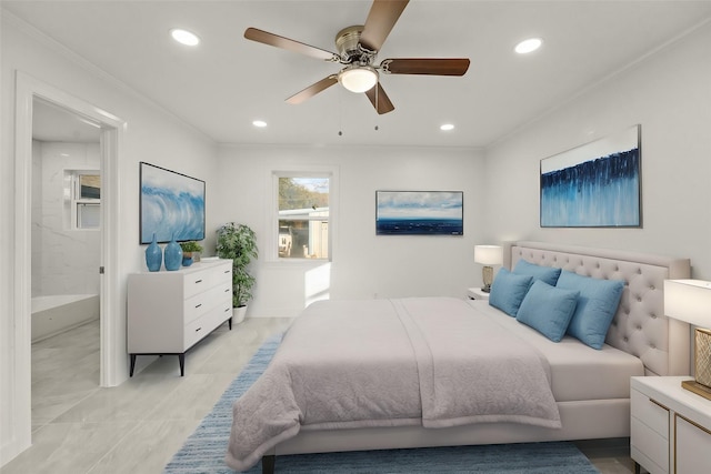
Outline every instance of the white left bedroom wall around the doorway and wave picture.
<svg viewBox="0 0 711 474">
<path fill-rule="evenodd" d="M 51 40 L 34 32 L 7 13 L 2 13 L 0 62 L 0 465 L 14 456 L 29 442 L 29 416 L 27 432 L 18 431 L 16 403 L 29 399 L 18 391 L 14 369 L 18 354 L 29 353 L 27 347 L 17 346 L 14 334 L 16 314 L 13 269 L 14 242 L 14 97 L 16 71 L 71 94 L 83 102 L 103 109 L 127 122 L 119 150 L 119 213 L 121 225 L 118 230 L 121 275 L 120 293 L 116 301 L 119 319 L 112 334 L 116 340 L 126 337 L 126 275 L 144 269 L 144 246 L 138 244 L 138 193 L 139 161 L 179 171 L 207 182 L 207 201 L 214 202 L 217 171 L 217 148 L 202 133 L 166 113 L 152 102 L 138 95 L 112 78 L 87 64 Z M 208 228 L 214 228 L 213 214 L 208 212 Z M 211 238 L 213 245 L 214 239 Z M 210 241 L 208 241 L 210 244 Z M 27 269 L 26 269 L 27 270 Z M 27 315 L 29 321 L 29 314 Z M 21 342 L 20 344 L 24 344 Z M 126 345 L 117 343 L 117 351 Z M 127 362 L 117 370 L 117 381 L 128 377 Z M 24 404 L 24 402 L 22 402 Z"/>
</svg>

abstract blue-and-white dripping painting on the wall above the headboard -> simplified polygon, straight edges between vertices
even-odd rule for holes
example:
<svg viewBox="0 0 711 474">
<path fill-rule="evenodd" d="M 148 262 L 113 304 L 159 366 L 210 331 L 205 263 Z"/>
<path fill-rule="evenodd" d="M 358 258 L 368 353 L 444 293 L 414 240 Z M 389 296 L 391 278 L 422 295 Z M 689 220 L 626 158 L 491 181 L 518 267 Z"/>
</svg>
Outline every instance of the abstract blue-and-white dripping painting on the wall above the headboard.
<svg viewBox="0 0 711 474">
<path fill-rule="evenodd" d="M 641 228 L 640 125 L 541 160 L 542 228 Z"/>
</svg>

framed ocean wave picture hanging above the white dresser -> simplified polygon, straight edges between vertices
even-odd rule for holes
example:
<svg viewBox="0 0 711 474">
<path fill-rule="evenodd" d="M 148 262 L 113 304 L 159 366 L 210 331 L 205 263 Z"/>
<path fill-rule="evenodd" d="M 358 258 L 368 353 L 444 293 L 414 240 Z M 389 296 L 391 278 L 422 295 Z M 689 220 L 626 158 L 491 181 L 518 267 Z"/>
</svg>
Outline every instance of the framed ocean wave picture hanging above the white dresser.
<svg viewBox="0 0 711 474">
<path fill-rule="evenodd" d="M 141 243 L 204 239 L 204 181 L 140 163 Z"/>
</svg>

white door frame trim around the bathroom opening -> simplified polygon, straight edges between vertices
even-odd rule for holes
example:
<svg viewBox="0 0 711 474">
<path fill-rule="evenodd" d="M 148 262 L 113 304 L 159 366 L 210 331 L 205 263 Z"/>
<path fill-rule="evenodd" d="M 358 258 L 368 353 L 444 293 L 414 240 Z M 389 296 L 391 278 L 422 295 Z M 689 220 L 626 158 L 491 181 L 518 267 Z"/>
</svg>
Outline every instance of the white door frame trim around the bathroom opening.
<svg viewBox="0 0 711 474">
<path fill-rule="evenodd" d="M 31 210 L 32 210 L 32 102 L 51 102 L 101 127 L 101 268 L 100 275 L 100 385 L 114 386 L 126 372 L 126 343 L 118 324 L 120 313 L 119 153 L 126 122 L 74 95 L 31 75 L 16 73 L 14 135 L 14 299 L 12 361 L 12 440 L 17 453 L 31 444 Z M 97 272 L 100 270 L 97 269 Z"/>
</svg>

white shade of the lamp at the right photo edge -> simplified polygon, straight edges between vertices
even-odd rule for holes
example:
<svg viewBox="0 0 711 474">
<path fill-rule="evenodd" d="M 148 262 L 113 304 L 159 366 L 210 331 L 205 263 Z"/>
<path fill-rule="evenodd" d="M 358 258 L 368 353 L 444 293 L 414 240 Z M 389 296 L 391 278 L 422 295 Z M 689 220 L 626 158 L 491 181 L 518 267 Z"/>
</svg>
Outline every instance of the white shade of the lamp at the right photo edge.
<svg viewBox="0 0 711 474">
<path fill-rule="evenodd" d="M 664 280 L 664 314 L 674 320 L 711 326 L 711 282 Z"/>
</svg>

